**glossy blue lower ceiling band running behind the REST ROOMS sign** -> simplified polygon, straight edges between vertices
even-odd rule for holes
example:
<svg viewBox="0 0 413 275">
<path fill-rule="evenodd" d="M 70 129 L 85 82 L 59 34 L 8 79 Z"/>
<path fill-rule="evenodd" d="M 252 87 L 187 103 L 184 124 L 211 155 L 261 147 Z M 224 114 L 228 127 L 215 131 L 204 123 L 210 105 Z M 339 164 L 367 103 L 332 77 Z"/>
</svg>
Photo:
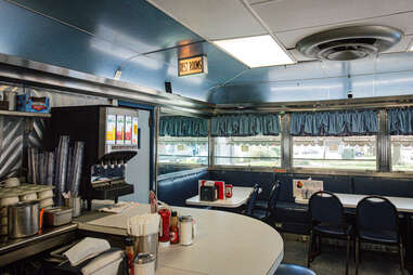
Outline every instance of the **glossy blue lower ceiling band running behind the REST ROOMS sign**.
<svg viewBox="0 0 413 275">
<path fill-rule="evenodd" d="M 0 52 L 23 58 L 113 78 L 116 68 L 135 52 L 26 9 L 0 1 Z M 16 19 L 18 18 L 18 19 Z M 208 90 L 246 69 L 240 62 L 209 43 L 168 49 L 124 63 L 121 81 L 159 91 L 172 82 L 176 94 L 206 101 Z M 191 48 L 191 49 L 189 49 Z M 178 56 L 205 53 L 210 73 L 178 78 Z"/>
</svg>

